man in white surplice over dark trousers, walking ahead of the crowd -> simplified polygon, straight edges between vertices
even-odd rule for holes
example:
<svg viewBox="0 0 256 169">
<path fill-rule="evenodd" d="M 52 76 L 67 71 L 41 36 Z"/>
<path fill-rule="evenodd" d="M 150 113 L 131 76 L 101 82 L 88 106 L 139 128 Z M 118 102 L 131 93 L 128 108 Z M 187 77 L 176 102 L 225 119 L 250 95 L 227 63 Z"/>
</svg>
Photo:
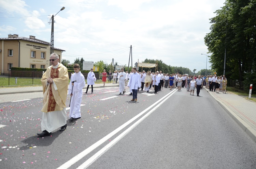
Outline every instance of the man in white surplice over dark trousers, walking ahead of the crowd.
<svg viewBox="0 0 256 169">
<path fill-rule="evenodd" d="M 128 87 L 132 89 L 132 100 L 131 101 L 137 101 L 137 93 L 138 88 L 141 87 L 141 81 L 140 81 L 140 74 L 136 72 L 137 69 L 133 68 L 133 73 L 131 74 L 131 78 L 128 83 Z"/>
</svg>

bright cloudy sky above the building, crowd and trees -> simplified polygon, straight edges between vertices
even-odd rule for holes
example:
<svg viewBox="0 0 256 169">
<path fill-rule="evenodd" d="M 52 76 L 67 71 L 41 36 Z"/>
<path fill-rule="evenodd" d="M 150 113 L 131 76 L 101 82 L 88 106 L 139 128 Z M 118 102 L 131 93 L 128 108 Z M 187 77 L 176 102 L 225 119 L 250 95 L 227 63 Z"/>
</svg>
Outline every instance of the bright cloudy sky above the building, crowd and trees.
<svg viewBox="0 0 256 169">
<path fill-rule="evenodd" d="M 0 37 L 18 34 L 51 41 L 74 62 L 104 61 L 128 65 L 159 59 L 167 65 L 205 69 L 208 50 L 204 36 L 209 19 L 225 0 L 0 0 Z M 210 54 L 208 54 L 210 55 Z M 209 61 L 209 59 L 208 59 Z M 130 61 L 131 65 L 131 61 Z M 207 63 L 207 69 L 211 64 Z M 196 72 L 197 72 L 196 71 Z"/>
</svg>

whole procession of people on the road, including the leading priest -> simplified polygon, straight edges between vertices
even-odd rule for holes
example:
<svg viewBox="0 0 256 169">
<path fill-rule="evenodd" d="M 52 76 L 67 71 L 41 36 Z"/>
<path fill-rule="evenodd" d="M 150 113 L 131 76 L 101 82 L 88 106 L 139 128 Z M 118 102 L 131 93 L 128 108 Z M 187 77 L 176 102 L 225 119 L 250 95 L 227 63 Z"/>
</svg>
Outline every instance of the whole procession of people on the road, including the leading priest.
<svg viewBox="0 0 256 169">
<path fill-rule="evenodd" d="M 59 131 L 65 131 L 67 128 L 67 113 L 66 113 L 66 99 L 68 94 L 70 98 L 70 119 L 69 122 L 81 118 L 81 101 L 83 96 L 83 87 L 85 86 L 84 75 L 80 72 L 80 66 L 75 64 L 73 66 L 74 72 L 71 76 L 70 83 L 68 69 L 59 63 L 59 55 L 52 53 L 50 55 L 51 66 L 44 72 L 41 82 L 43 85 L 43 108 L 42 108 L 42 122 L 41 131 L 38 133 L 39 136 L 49 136 L 52 131 L 60 128 Z M 199 96 L 200 89 L 203 85 L 206 86 L 210 91 L 225 92 L 227 86 L 227 79 L 225 75 L 216 77 L 204 76 L 201 78 L 200 75 L 191 76 L 187 74 L 168 74 L 162 73 L 162 71 L 142 71 L 139 72 L 135 67 L 132 68 L 131 72 L 124 72 L 122 68 L 120 71 L 114 73 L 106 73 L 105 70 L 101 73 L 103 86 L 105 86 L 106 79 L 108 78 L 109 83 L 113 79 L 113 84 L 119 81 L 119 95 L 125 94 L 125 84 L 129 87 L 130 95 L 132 95 L 131 101 L 137 101 L 137 94 L 139 89 L 141 91 L 149 92 L 150 88 L 154 88 L 154 92 L 161 91 L 163 85 L 165 88 L 177 88 L 181 91 L 181 88 L 186 88 L 190 91 L 190 95 L 194 95 L 195 88 L 197 89 L 197 96 Z M 87 75 L 87 88 L 85 94 L 88 92 L 88 88 L 91 85 L 91 93 L 93 94 L 93 85 L 96 81 L 93 69 Z"/>
</svg>

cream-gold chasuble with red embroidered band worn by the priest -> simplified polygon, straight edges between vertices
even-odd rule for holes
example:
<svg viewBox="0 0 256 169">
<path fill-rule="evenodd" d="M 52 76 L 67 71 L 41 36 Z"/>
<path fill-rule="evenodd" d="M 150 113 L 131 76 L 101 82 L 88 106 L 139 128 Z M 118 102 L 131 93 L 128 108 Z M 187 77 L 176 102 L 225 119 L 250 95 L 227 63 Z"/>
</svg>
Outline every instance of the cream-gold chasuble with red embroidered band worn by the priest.
<svg viewBox="0 0 256 169">
<path fill-rule="evenodd" d="M 54 83 L 47 85 L 47 78 L 52 78 Z M 41 78 L 44 94 L 42 112 L 59 111 L 66 107 L 68 81 L 68 69 L 62 64 L 57 68 L 47 68 Z"/>
</svg>

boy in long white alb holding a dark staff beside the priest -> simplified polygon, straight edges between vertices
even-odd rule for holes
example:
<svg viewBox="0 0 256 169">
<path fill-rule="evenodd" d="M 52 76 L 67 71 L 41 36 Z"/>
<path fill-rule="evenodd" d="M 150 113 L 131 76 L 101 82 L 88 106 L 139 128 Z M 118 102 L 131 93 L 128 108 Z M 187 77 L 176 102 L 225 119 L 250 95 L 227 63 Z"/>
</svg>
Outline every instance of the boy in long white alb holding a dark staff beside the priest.
<svg viewBox="0 0 256 169">
<path fill-rule="evenodd" d="M 73 73 L 70 78 L 68 90 L 68 94 L 71 96 L 71 101 L 69 105 L 70 122 L 81 118 L 80 107 L 83 96 L 83 88 L 85 86 L 84 75 L 80 72 L 79 64 L 74 64 L 73 68 L 75 73 Z"/>
</svg>

